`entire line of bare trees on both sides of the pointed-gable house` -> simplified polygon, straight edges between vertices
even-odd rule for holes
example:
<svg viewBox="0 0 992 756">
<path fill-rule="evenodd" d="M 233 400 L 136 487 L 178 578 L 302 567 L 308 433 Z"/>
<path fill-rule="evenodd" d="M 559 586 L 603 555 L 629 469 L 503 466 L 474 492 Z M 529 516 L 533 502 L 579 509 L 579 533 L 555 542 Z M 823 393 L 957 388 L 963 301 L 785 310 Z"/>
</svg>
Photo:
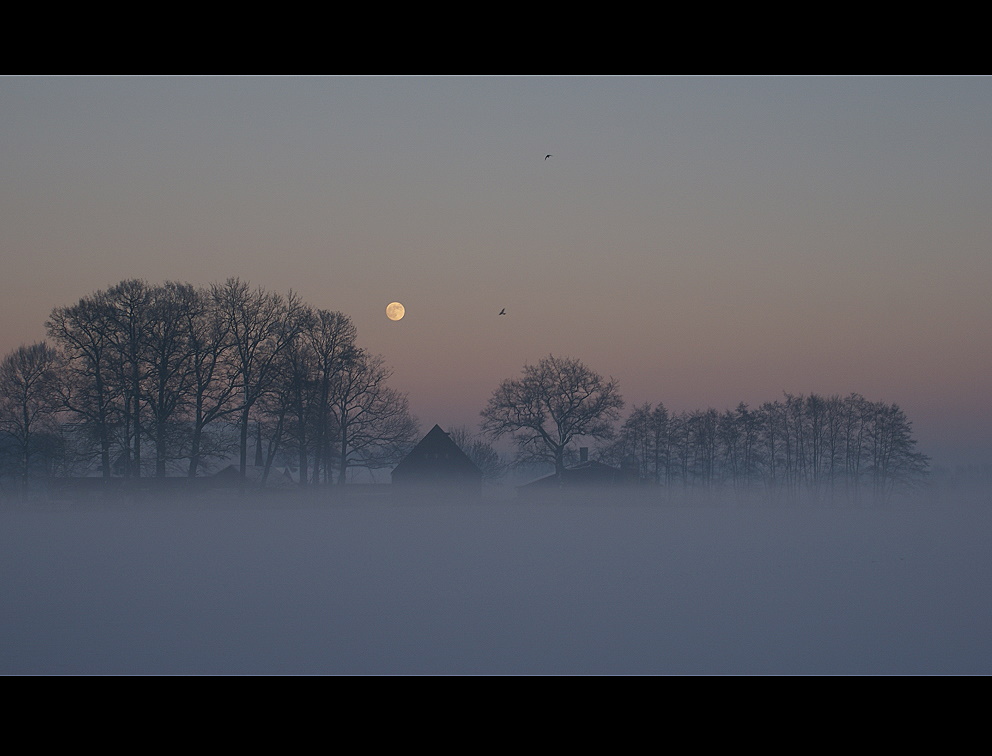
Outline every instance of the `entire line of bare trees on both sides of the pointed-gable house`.
<svg viewBox="0 0 992 756">
<path fill-rule="evenodd" d="M 419 439 L 383 358 L 358 346 L 350 318 L 230 278 L 194 287 L 122 281 L 56 307 L 49 339 L 0 362 L 0 463 L 32 478 L 197 478 L 236 459 L 265 485 L 274 466 L 300 487 L 388 468 Z M 669 413 L 634 407 L 621 422 L 616 382 L 548 356 L 501 382 L 482 416 L 516 464 L 564 482 L 580 445 L 659 493 L 873 499 L 928 471 L 894 404 L 816 394 L 757 408 Z M 487 479 L 507 469 L 464 428 L 452 438 Z M 249 455 L 250 451 L 253 455 Z"/>
</svg>

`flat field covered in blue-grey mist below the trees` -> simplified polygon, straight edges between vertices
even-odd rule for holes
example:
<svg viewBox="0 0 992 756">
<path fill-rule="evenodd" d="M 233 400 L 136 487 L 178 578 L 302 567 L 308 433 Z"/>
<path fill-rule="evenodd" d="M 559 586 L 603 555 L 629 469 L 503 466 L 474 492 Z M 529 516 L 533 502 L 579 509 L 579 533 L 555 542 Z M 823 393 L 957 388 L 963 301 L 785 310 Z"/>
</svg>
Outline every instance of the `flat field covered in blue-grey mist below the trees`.
<svg viewBox="0 0 992 756">
<path fill-rule="evenodd" d="M 5 504 L 0 673 L 989 674 L 989 504 Z"/>
</svg>

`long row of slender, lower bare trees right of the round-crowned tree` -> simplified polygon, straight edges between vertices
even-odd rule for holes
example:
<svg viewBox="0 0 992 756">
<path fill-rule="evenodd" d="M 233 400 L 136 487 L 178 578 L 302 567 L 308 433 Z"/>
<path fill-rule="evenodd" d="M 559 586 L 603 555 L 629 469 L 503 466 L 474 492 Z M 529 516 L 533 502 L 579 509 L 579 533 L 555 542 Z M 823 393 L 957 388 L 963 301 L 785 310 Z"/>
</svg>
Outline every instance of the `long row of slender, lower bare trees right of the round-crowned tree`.
<svg viewBox="0 0 992 756">
<path fill-rule="evenodd" d="M 846 397 L 794 396 L 752 409 L 669 413 L 635 407 L 601 451 L 614 464 L 669 490 L 693 488 L 790 499 L 872 499 L 917 486 L 929 460 L 895 404 Z"/>
</svg>

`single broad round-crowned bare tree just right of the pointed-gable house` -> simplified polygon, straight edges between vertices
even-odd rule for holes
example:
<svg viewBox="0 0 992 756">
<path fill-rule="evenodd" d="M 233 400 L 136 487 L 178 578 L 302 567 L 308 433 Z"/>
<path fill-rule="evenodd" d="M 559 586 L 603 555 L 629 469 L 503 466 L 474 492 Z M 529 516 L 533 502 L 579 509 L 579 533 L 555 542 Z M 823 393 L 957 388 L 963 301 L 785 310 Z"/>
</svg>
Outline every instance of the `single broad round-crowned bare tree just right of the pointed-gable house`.
<svg viewBox="0 0 992 756">
<path fill-rule="evenodd" d="M 520 459 L 550 462 L 560 479 L 569 444 L 610 439 L 622 408 L 613 379 L 604 381 L 577 359 L 549 355 L 524 365 L 521 378 L 503 381 L 480 414 L 491 438 L 509 434 Z"/>
</svg>

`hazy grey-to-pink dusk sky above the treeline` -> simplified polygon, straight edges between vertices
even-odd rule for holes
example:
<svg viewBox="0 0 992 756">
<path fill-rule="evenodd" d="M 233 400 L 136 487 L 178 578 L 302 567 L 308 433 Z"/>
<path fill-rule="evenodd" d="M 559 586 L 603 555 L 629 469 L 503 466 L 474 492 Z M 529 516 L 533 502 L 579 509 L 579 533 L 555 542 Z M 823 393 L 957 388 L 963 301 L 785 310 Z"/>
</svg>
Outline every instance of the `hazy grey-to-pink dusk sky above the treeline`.
<svg viewBox="0 0 992 756">
<path fill-rule="evenodd" d="M 2 354 L 125 278 L 239 276 L 351 316 L 425 431 L 554 353 L 990 458 L 989 77 L 6 77 L 0 156 Z"/>
</svg>

